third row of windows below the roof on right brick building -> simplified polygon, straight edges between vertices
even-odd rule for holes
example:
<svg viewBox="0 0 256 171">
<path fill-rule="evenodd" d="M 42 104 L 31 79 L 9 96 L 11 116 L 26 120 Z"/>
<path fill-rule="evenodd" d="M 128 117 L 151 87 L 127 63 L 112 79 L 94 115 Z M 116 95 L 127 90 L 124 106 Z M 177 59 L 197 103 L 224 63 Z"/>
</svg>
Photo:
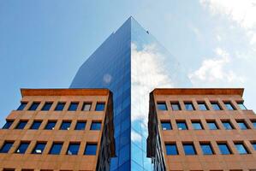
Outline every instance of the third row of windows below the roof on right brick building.
<svg viewBox="0 0 256 171">
<path fill-rule="evenodd" d="M 256 142 L 251 142 L 253 145 L 253 149 L 256 150 Z M 234 142 L 235 148 L 239 154 L 249 154 L 250 151 L 247 149 L 246 145 L 242 142 Z M 210 142 L 202 142 L 199 143 L 201 147 L 201 151 L 204 155 L 214 155 L 216 154 L 216 151 L 213 150 L 212 145 Z M 182 143 L 183 151 L 185 155 L 197 155 L 198 152 L 195 149 L 193 143 Z M 234 154 L 233 151 L 229 148 L 228 143 L 217 143 L 218 150 L 220 151 L 220 154 L 222 155 L 230 155 Z M 179 155 L 180 151 L 177 149 L 176 143 L 168 143 L 165 144 L 166 154 L 170 156 Z"/>
</svg>

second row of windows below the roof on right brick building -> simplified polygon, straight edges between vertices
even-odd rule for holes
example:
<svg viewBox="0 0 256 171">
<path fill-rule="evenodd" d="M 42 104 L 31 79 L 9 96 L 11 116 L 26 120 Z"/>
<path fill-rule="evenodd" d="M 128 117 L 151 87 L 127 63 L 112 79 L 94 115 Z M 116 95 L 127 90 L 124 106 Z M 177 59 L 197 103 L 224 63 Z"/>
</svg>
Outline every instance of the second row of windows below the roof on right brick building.
<svg viewBox="0 0 256 171">
<path fill-rule="evenodd" d="M 205 127 L 203 127 L 201 121 L 191 121 L 191 123 L 192 123 L 194 130 L 205 129 Z M 211 121 L 206 121 L 206 123 L 210 130 L 219 129 L 216 121 L 211 120 Z M 240 127 L 241 130 L 246 130 L 246 129 L 251 128 L 248 126 L 246 121 L 237 120 L 236 123 Z M 235 129 L 234 125 L 229 120 L 223 120 L 222 124 L 226 130 Z M 252 124 L 253 124 L 254 129 L 256 129 L 256 121 L 252 121 Z M 177 125 L 177 129 L 179 129 L 179 130 L 188 130 L 188 125 L 187 125 L 186 121 L 176 121 L 176 125 Z M 161 126 L 162 126 L 162 130 L 171 130 L 172 129 L 170 121 L 161 121 Z"/>
</svg>

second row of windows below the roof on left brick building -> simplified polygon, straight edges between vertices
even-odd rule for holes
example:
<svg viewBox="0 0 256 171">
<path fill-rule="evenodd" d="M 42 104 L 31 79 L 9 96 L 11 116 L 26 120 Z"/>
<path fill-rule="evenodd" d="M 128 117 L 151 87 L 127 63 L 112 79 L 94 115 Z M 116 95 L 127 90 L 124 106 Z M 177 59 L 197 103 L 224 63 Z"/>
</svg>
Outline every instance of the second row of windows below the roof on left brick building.
<svg viewBox="0 0 256 171">
<path fill-rule="evenodd" d="M 14 121 L 6 121 L 3 129 L 9 129 Z M 59 130 L 69 130 L 72 121 L 63 121 Z M 39 129 L 42 121 L 33 121 L 30 129 Z M 45 125 L 45 130 L 53 130 L 56 129 L 57 121 L 48 121 Z M 15 129 L 24 129 L 26 127 L 27 121 L 19 121 L 19 123 L 15 126 Z M 74 127 L 74 130 L 85 130 L 86 129 L 86 121 L 77 121 Z M 101 121 L 92 121 L 90 130 L 100 130 L 101 129 Z"/>
</svg>

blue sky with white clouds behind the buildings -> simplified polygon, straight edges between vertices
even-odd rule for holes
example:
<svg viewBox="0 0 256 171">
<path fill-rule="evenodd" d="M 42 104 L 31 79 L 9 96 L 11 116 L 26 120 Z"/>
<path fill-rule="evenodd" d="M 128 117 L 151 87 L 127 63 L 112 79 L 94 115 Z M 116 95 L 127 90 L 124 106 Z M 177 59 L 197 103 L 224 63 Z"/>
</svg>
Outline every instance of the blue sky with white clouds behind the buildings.
<svg viewBox="0 0 256 171">
<path fill-rule="evenodd" d="M 253 97 L 253 0 L 0 0 L 0 123 L 20 88 L 68 87 L 82 62 L 133 15 L 187 69 L 196 87 L 245 87 Z"/>
</svg>

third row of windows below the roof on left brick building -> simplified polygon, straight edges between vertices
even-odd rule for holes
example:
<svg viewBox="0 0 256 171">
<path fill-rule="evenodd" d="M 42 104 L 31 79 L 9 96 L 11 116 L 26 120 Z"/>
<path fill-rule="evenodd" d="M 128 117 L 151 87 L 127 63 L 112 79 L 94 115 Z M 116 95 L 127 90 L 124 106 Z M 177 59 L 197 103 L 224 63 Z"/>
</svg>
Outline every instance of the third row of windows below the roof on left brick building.
<svg viewBox="0 0 256 171">
<path fill-rule="evenodd" d="M 0 149 L 0 153 L 8 153 L 12 148 L 14 141 L 5 141 Z M 29 146 L 30 142 L 21 141 L 18 148 L 15 150 L 17 154 L 24 154 Z M 33 147 L 32 154 L 42 154 L 45 150 L 46 142 L 37 142 Z M 51 145 L 51 149 L 48 154 L 59 155 L 63 148 L 63 142 L 56 142 Z M 80 149 L 80 143 L 69 143 L 66 155 L 77 155 Z M 84 155 L 96 155 L 97 143 L 87 143 L 84 150 Z"/>
</svg>

